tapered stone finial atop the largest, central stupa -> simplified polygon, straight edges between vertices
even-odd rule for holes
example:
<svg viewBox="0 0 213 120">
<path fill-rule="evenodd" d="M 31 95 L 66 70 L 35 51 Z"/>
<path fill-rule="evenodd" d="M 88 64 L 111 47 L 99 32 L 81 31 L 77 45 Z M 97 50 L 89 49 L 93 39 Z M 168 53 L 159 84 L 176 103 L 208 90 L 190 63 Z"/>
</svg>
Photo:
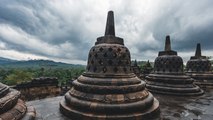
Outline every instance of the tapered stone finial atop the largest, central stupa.
<svg viewBox="0 0 213 120">
<path fill-rule="evenodd" d="M 114 14 L 113 11 L 109 11 L 107 15 L 107 23 L 105 29 L 105 36 L 113 35 L 115 36 L 115 25 L 114 25 Z"/>
</svg>

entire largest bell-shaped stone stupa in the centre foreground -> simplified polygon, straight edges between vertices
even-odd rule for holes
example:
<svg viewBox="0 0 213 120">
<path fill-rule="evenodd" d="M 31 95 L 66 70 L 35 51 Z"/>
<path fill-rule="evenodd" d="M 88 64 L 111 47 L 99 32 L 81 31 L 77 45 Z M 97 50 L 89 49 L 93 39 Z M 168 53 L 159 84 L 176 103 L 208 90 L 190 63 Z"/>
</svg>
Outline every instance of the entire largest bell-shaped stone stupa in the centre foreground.
<svg viewBox="0 0 213 120">
<path fill-rule="evenodd" d="M 114 15 L 108 12 L 105 36 L 90 49 L 86 72 L 60 102 L 73 120 L 142 120 L 159 115 L 159 102 L 131 69 L 130 52 L 115 36 Z"/>
</svg>

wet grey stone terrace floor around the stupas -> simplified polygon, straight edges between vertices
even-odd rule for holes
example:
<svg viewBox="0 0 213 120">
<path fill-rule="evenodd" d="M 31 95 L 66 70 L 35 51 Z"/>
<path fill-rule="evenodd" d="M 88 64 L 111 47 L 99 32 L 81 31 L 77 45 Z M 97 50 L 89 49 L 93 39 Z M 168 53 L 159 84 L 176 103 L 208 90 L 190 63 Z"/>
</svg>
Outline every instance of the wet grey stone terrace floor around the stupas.
<svg viewBox="0 0 213 120">
<path fill-rule="evenodd" d="M 213 120 L 213 89 L 197 97 L 178 97 L 154 94 L 160 102 L 160 120 Z M 70 120 L 59 111 L 63 96 L 29 101 L 36 108 L 36 120 Z"/>
</svg>

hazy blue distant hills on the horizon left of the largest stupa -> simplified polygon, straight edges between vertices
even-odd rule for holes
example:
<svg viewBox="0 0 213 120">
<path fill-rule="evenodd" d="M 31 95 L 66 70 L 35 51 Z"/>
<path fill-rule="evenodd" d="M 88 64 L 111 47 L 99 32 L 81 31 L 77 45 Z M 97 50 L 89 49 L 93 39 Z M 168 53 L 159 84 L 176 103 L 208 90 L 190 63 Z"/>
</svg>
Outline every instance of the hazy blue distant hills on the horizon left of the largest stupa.
<svg viewBox="0 0 213 120">
<path fill-rule="evenodd" d="M 77 68 L 84 65 L 75 65 L 52 60 L 11 60 L 0 57 L 0 68 Z"/>
</svg>

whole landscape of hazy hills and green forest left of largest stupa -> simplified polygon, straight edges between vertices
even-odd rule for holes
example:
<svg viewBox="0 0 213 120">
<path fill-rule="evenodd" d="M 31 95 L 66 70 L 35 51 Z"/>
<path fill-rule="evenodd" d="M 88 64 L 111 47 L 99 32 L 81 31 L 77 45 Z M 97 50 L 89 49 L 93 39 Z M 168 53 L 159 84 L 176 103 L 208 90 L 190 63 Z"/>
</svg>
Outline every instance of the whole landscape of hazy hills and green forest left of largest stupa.
<svg viewBox="0 0 213 120">
<path fill-rule="evenodd" d="M 51 60 L 17 61 L 0 58 L 0 82 L 16 85 L 37 77 L 57 77 L 59 85 L 67 84 L 85 71 L 83 65 L 73 65 Z"/>
</svg>

